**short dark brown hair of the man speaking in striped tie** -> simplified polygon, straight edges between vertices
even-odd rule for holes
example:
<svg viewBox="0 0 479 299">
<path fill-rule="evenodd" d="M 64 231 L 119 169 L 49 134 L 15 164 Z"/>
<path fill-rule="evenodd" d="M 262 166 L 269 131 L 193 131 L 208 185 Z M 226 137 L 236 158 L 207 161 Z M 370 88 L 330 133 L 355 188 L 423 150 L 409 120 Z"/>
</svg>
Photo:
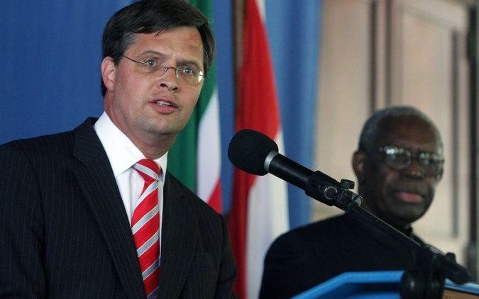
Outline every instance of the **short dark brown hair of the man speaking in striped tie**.
<svg viewBox="0 0 479 299">
<path fill-rule="evenodd" d="M 214 38 L 208 19 L 185 0 L 141 0 L 114 13 L 106 23 L 101 43 L 101 59 L 112 57 L 115 64 L 133 43 L 136 33 L 161 33 L 181 26 L 196 27 L 203 42 L 204 72 L 214 58 Z M 101 95 L 106 86 L 101 79 Z"/>
</svg>

